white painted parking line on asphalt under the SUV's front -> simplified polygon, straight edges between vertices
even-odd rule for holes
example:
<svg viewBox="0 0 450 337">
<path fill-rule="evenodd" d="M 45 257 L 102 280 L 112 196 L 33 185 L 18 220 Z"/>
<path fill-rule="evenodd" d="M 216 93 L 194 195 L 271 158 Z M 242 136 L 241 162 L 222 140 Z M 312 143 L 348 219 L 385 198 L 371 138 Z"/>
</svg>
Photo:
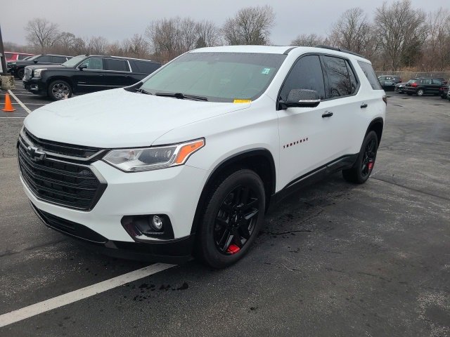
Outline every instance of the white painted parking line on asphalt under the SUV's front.
<svg viewBox="0 0 450 337">
<path fill-rule="evenodd" d="M 136 281 L 136 279 L 142 279 L 143 277 L 148 277 L 150 275 L 156 274 L 157 272 L 162 272 L 174 267 L 175 265 L 166 265 L 164 263 L 155 263 L 154 265 L 148 265 L 133 272 L 129 272 L 124 275 L 113 277 L 112 279 L 107 279 L 106 281 L 99 282 L 97 284 L 92 284 L 91 286 L 86 286 L 85 288 L 71 291 L 70 293 L 65 293 L 64 295 L 56 296 L 50 298 L 49 300 L 44 300 L 42 302 L 29 305 L 25 308 L 14 310 L 8 312 L 4 315 L 0 315 L 0 328 L 15 322 L 19 322 L 23 319 L 30 318 L 35 315 L 39 315 L 42 312 L 60 308 L 63 305 L 68 305 L 70 303 L 77 302 L 77 300 L 82 300 L 94 296 L 98 293 L 103 293 L 103 291 L 108 291 L 117 286 L 123 286 L 129 282 Z"/>
</svg>

